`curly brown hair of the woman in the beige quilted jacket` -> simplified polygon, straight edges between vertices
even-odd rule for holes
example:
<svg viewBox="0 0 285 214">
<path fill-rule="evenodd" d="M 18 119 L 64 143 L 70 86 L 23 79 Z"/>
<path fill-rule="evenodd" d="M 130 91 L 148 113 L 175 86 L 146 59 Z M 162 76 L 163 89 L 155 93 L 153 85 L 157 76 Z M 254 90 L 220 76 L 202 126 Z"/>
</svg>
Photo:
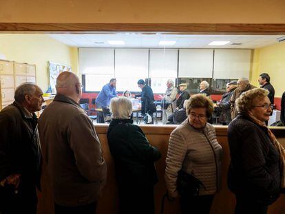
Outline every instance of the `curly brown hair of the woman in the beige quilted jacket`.
<svg viewBox="0 0 285 214">
<path fill-rule="evenodd" d="M 213 101 L 205 94 L 195 94 L 189 98 L 186 104 L 187 115 L 190 114 L 193 108 L 206 108 L 206 114 L 209 118 L 213 114 Z"/>
</svg>

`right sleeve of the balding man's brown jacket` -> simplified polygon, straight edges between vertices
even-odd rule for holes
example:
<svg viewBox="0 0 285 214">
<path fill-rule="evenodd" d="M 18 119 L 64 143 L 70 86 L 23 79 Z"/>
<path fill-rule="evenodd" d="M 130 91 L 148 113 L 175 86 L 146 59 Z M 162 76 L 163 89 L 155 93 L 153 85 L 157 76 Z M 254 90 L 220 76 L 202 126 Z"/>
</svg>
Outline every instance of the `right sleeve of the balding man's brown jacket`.
<svg viewBox="0 0 285 214">
<path fill-rule="evenodd" d="M 101 143 L 86 115 L 79 114 L 72 120 L 67 130 L 67 139 L 81 175 L 89 182 L 105 182 L 107 166 L 103 159 Z"/>
</svg>

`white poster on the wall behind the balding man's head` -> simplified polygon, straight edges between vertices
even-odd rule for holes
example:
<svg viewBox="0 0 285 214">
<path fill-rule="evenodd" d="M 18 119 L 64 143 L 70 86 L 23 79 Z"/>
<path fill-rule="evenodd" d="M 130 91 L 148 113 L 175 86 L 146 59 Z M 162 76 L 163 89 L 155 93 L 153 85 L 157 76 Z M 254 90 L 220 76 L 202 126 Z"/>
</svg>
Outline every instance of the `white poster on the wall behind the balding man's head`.
<svg viewBox="0 0 285 214">
<path fill-rule="evenodd" d="M 61 72 L 71 72 L 72 67 L 69 65 L 63 65 L 59 63 L 52 63 L 52 62 L 47 62 L 48 64 L 48 71 L 50 74 L 50 86 L 48 88 L 48 92 L 52 94 L 56 94 L 56 78 L 61 74 Z"/>
</svg>

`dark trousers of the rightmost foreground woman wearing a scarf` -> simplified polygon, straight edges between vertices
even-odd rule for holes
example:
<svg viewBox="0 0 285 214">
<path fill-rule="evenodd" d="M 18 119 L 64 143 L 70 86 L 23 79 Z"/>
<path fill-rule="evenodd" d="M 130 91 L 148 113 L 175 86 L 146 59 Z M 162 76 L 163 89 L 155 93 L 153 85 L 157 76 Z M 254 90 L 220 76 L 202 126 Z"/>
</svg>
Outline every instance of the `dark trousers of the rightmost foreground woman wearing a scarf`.
<svg viewBox="0 0 285 214">
<path fill-rule="evenodd" d="M 235 197 L 235 214 L 266 214 L 267 213 L 267 205 L 260 204 L 257 202 L 253 202 L 246 197 Z"/>
</svg>

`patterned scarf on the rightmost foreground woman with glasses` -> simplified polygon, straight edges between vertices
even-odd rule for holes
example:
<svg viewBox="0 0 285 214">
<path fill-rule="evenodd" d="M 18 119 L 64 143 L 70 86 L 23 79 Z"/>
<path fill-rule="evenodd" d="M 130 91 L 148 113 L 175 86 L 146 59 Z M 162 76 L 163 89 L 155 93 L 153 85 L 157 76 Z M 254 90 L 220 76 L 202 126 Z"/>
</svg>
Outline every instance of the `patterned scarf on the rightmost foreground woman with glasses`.
<svg viewBox="0 0 285 214">
<path fill-rule="evenodd" d="M 249 113 L 248 114 L 249 118 L 251 119 L 251 121 L 253 121 L 255 124 L 261 126 L 261 127 L 266 127 L 266 125 L 264 124 L 264 122 L 258 120 L 257 118 L 255 118 L 255 116 L 253 116 L 253 114 Z M 279 161 L 280 161 L 280 170 L 281 170 L 281 187 L 284 188 L 285 187 L 285 149 L 284 147 L 282 147 L 282 145 L 280 145 L 280 143 L 278 142 L 278 140 L 276 139 L 276 137 L 274 136 L 274 134 L 272 133 L 272 131 L 270 129 L 268 129 L 268 127 L 266 127 L 267 132 L 268 132 L 268 136 L 271 140 L 271 142 L 273 143 L 273 146 L 275 147 L 275 149 L 278 151 L 279 153 Z"/>
</svg>

